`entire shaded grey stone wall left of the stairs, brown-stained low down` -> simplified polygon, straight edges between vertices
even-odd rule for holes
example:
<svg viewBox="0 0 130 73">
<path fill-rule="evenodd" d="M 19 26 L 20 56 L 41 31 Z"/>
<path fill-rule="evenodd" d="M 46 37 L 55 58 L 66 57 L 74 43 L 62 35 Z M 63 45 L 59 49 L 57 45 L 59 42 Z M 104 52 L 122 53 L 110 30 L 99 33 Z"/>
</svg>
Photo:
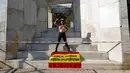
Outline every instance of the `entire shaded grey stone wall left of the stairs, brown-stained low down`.
<svg viewBox="0 0 130 73">
<path fill-rule="evenodd" d="M 41 32 L 47 29 L 48 6 L 39 6 L 38 3 L 34 0 L 8 0 L 8 59 L 16 58 L 18 50 L 26 49 L 26 41 L 40 36 Z"/>
</svg>

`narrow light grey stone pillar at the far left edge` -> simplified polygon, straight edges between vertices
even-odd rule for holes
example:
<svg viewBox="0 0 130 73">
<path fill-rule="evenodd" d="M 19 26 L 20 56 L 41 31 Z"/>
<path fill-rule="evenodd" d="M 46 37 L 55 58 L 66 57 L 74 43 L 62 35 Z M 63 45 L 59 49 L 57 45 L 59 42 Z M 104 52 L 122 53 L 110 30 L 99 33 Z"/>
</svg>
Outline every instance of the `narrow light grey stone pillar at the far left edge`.
<svg viewBox="0 0 130 73">
<path fill-rule="evenodd" d="M 7 26 L 7 4 L 8 0 L 0 2 L 0 67 L 3 67 L 1 61 L 6 60 L 6 26 Z"/>
</svg>

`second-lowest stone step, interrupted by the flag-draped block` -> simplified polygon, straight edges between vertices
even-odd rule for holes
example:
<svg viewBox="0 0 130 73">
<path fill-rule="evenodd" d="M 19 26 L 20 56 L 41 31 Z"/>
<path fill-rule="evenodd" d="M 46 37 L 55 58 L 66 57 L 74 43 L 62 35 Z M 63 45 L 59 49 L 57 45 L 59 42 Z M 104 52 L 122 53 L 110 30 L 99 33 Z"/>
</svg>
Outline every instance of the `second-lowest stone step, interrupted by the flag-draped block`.
<svg viewBox="0 0 130 73">
<path fill-rule="evenodd" d="M 53 51 L 23 51 L 17 52 L 18 59 L 32 59 L 32 60 L 48 60 L 50 54 Z M 93 60 L 107 60 L 108 54 L 106 52 L 95 51 L 79 51 L 81 59 L 93 59 Z"/>
</svg>

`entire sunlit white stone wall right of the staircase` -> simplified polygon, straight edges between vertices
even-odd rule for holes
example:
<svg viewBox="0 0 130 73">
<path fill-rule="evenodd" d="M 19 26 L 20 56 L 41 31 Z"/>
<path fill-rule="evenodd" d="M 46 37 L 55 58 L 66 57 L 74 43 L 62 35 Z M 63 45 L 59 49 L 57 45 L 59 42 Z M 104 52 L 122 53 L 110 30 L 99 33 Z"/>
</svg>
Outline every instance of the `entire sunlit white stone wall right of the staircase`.
<svg viewBox="0 0 130 73">
<path fill-rule="evenodd" d="M 91 33 L 92 42 L 98 42 L 92 44 L 97 44 L 99 51 L 107 52 L 121 41 L 119 3 L 119 0 L 80 0 L 82 38 Z M 109 59 L 122 62 L 121 44 L 109 52 Z"/>
</svg>

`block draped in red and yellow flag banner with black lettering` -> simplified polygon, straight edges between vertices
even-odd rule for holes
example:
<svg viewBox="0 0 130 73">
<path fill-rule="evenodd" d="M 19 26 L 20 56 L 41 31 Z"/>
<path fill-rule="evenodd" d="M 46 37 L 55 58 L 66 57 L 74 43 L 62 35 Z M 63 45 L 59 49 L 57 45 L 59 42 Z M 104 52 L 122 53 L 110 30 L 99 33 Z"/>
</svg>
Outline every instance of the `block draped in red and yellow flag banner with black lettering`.
<svg viewBox="0 0 130 73">
<path fill-rule="evenodd" d="M 48 61 L 49 68 L 81 68 L 79 52 L 52 52 Z"/>
</svg>

